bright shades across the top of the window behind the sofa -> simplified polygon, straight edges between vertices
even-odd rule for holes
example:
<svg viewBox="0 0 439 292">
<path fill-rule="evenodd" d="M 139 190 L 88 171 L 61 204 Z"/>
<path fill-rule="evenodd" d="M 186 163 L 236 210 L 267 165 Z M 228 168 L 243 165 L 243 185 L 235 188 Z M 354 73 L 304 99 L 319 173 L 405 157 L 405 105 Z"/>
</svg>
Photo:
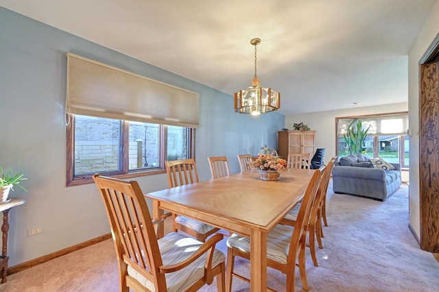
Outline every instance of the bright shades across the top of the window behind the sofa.
<svg viewBox="0 0 439 292">
<path fill-rule="evenodd" d="M 355 118 L 338 119 L 338 136 L 347 133 L 349 123 Z M 401 136 L 407 135 L 409 127 L 408 114 L 395 114 L 380 117 L 359 117 L 364 128 L 370 125 L 368 136 Z"/>
</svg>

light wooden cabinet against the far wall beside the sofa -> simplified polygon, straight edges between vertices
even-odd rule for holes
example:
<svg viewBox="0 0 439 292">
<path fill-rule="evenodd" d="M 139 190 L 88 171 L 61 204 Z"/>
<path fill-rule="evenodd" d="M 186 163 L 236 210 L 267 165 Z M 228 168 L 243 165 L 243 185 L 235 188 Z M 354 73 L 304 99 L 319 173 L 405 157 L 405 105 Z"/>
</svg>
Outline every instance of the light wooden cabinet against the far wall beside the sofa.
<svg viewBox="0 0 439 292">
<path fill-rule="evenodd" d="M 279 131 L 278 154 L 284 159 L 289 153 L 309 153 L 314 155 L 316 131 Z"/>
</svg>

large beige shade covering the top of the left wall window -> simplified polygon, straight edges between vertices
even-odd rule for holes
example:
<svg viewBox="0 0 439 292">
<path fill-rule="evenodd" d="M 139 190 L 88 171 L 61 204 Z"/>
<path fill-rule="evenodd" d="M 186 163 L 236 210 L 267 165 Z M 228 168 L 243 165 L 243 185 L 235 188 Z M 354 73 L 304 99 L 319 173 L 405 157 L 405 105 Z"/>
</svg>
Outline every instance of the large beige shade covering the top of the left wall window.
<svg viewBox="0 0 439 292">
<path fill-rule="evenodd" d="M 67 53 L 70 114 L 198 127 L 199 94 Z"/>
</svg>

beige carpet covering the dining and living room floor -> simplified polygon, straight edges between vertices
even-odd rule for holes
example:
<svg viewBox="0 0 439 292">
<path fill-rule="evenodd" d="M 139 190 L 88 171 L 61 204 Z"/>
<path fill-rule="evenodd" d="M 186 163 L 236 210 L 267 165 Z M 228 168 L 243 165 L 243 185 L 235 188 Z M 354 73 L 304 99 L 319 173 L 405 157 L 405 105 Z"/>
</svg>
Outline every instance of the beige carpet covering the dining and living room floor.
<svg viewBox="0 0 439 292">
<path fill-rule="evenodd" d="M 311 291 L 439 291 L 439 264 L 420 250 L 408 228 L 408 187 L 401 186 L 385 202 L 328 191 L 329 227 L 319 267 L 307 256 Z M 119 278 L 112 241 L 8 276 L 0 291 L 118 291 Z M 219 248 L 226 252 L 222 242 Z M 248 263 L 240 260 L 243 273 Z M 270 287 L 285 291 L 285 276 L 268 271 Z M 248 291 L 248 283 L 233 280 L 233 291 Z M 202 291 L 216 291 L 216 286 Z M 302 283 L 296 269 L 296 291 Z"/>
</svg>

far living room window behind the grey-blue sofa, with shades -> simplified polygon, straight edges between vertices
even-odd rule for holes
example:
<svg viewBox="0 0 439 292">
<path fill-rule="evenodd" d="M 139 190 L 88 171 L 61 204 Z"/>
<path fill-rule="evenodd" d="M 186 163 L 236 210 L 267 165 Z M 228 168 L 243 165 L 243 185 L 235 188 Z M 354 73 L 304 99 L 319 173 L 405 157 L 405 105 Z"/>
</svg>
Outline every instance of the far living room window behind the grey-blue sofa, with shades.
<svg viewBox="0 0 439 292">
<path fill-rule="evenodd" d="M 344 134 L 353 119 L 360 119 L 365 127 L 370 125 L 368 136 L 364 141 L 364 154 L 370 157 L 381 157 L 388 162 L 399 162 L 401 167 L 409 167 L 407 112 L 336 118 L 338 157 L 349 155 Z"/>
</svg>

